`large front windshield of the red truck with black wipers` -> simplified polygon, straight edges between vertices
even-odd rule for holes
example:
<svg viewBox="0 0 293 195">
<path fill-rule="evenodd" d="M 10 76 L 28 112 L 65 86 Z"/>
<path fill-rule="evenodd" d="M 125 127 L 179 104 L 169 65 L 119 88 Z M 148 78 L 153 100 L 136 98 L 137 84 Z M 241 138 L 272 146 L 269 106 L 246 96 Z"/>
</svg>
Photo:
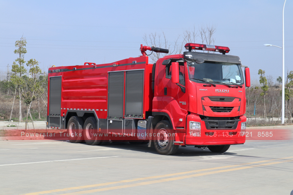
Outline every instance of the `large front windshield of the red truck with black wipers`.
<svg viewBox="0 0 293 195">
<path fill-rule="evenodd" d="M 195 61 L 187 60 L 187 65 L 189 78 L 196 82 L 243 83 L 240 64 L 213 61 L 197 64 Z"/>
</svg>

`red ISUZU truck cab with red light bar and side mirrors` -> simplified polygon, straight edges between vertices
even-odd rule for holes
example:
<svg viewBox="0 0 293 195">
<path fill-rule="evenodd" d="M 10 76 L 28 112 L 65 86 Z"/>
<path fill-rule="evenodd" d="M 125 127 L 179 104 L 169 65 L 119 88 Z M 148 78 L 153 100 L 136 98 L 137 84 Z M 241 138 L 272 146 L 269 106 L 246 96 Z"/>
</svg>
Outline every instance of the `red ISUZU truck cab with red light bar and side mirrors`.
<svg viewBox="0 0 293 195">
<path fill-rule="evenodd" d="M 164 153 L 167 140 L 172 139 L 166 135 L 172 132 L 175 146 L 194 145 L 225 152 L 230 145 L 243 144 L 249 69 L 245 68 L 244 77 L 240 58 L 225 55 L 228 47 L 188 43 L 185 48 L 189 51 L 165 56 L 154 65 L 152 114 L 157 118 L 166 116 L 165 126 L 159 122 L 155 128 L 160 135 L 154 138 L 157 151 Z M 172 126 L 172 132 L 164 130 L 167 126 Z M 160 131 L 165 136 L 158 134 Z"/>
</svg>

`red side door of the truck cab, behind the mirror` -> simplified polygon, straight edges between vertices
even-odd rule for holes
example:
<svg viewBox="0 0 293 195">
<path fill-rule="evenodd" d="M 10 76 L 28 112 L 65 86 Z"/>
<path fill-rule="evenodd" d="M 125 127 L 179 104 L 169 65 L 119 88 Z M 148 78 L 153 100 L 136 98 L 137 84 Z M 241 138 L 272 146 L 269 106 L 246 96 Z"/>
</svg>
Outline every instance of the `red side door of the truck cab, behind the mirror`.
<svg viewBox="0 0 293 195">
<path fill-rule="evenodd" d="M 175 127 L 184 127 L 184 116 L 187 112 L 187 87 L 186 87 L 186 70 L 184 62 L 179 64 L 179 83 L 171 82 L 171 62 L 166 65 L 165 77 L 163 78 L 164 96 L 162 98 L 166 109 L 171 113 Z M 184 92 L 185 90 L 185 92 Z"/>
</svg>

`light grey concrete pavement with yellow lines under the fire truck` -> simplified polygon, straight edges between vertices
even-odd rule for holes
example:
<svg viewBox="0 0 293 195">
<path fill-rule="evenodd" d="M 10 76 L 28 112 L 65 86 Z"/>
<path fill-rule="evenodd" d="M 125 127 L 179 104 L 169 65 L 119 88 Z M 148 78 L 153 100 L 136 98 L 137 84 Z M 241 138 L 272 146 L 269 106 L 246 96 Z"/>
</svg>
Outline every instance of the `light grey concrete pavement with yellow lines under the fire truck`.
<svg viewBox="0 0 293 195">
<path fill-rule="evenodd" d="M 290 194 L 292 141 L 164 156 L 147 145 L 0 141 L 0 194 Z"/>
</svg>

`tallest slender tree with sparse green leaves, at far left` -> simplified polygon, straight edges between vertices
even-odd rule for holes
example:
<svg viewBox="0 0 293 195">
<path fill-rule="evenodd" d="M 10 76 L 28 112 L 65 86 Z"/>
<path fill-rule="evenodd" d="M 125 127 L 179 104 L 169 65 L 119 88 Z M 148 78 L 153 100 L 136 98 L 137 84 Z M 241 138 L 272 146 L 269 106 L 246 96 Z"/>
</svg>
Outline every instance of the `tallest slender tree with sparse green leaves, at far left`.
<svg viewBox="0 0 293 195">
<path fill-rule="evenodd" d="M 13 82 L 14 85 L 17 86 L 18 90 L 18 97 L 19 98 L 19 121 L 22 121 L 22 113 L 21 113 L 21 93 L 22 93 L 22 87 L 24 84 L 24 80 L 22 78 L 22 75 L 26 73 L 26 69 L 24 67 L 24 54 L 27 52 L 26 51 L 26 40 L 25 37 L 21 37 L 20 40 L 17 40 L 15 42 L 15 47 L 17 49 L 14 50 L 15 54 L 18 54 L 19 57 L 13 62 L 12 69 L 11 71 L 13 74 L 11 75 L 11 81 Z"/>
</svg>

